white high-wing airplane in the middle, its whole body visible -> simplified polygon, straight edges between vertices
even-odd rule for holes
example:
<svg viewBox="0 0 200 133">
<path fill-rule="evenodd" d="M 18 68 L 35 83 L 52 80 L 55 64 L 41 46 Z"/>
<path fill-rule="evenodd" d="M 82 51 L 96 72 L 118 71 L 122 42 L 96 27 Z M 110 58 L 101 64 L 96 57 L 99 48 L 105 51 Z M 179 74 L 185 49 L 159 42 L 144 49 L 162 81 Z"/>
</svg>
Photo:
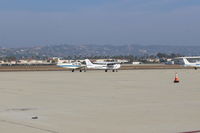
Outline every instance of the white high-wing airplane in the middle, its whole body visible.
<svg viewBox="0 0 200 133">
<path fill-rule="evenodd" d="M 116 62 L 99 62 L 98 64 L 93 64 L 89 59 L 85 59 L 86 67 L 89 69 L 101 69 L 107 72 L 108 70 L 112 70 L 113 72 L 117 72 L 121 66 Z"/>
</svg>

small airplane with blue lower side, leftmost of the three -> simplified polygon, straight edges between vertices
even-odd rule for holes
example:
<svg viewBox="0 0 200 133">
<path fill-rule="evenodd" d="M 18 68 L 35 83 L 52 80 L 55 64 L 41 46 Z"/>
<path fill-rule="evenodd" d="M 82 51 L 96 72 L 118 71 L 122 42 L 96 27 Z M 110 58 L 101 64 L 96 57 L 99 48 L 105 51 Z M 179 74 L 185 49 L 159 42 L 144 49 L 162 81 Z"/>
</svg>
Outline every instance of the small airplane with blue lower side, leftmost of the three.
<svg viewBox="0 0 200 133">
<path fill-rule="evenodd" d="M 81 65 L 80 62 L 58 63 L 57 66 L 62 67 L 62 68 L 72 69 L 72 72 L 74 72 L 76 69 L 80 69 L 80 72 L 82 72 L 83 70 L 85 72 L 85 66 Z"/>
</svg>

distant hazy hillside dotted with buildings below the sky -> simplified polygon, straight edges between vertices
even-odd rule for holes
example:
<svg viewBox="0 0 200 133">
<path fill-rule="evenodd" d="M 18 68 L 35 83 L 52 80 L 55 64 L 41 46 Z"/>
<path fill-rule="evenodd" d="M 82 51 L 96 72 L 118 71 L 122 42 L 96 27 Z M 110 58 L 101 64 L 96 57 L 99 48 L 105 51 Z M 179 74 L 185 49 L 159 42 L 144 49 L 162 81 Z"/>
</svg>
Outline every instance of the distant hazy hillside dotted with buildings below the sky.
<svg viewBox="0 0 200 133">
<path fill-rule="evenodd" d="M 161 45 L 53 45 L 31 48 L 0 48 L 0 57 L 67 57 L 67 56 L 117 56 L 156 55 L 178 53 L 186 56 L 200 55 L 200 46 Z"/>
</svg>

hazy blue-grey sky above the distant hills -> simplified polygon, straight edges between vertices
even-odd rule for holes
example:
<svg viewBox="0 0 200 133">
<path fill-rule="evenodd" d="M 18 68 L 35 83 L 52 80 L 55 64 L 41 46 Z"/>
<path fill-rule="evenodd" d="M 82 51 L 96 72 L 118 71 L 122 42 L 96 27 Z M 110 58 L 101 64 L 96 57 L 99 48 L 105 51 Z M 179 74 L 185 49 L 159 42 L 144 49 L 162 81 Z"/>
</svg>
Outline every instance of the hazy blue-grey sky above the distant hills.
<svg viewBox="0 0 200 133">
<path fill-rule="evenodd" d="M 200 45 L 200 0 L 0 0 L 0 46 Z"/>
</svg>

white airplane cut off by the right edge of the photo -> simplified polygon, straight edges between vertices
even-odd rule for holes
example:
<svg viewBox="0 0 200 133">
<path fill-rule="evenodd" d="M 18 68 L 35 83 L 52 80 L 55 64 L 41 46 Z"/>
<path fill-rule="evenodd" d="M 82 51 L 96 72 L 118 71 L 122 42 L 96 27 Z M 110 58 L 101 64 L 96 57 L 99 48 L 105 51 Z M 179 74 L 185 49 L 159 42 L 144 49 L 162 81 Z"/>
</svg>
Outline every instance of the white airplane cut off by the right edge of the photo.
<svg viewBox="0 0 200 133">
<path fill-rule="evenodd" d="M 184 62 L 184 66 L 194 67 L 195 69 L 200 67 L 200 61 L 196 60 L 194 62 L 189 62 L 188 59 L 199 59 L 199 57 L 181 57 Z"/>
</svg>

